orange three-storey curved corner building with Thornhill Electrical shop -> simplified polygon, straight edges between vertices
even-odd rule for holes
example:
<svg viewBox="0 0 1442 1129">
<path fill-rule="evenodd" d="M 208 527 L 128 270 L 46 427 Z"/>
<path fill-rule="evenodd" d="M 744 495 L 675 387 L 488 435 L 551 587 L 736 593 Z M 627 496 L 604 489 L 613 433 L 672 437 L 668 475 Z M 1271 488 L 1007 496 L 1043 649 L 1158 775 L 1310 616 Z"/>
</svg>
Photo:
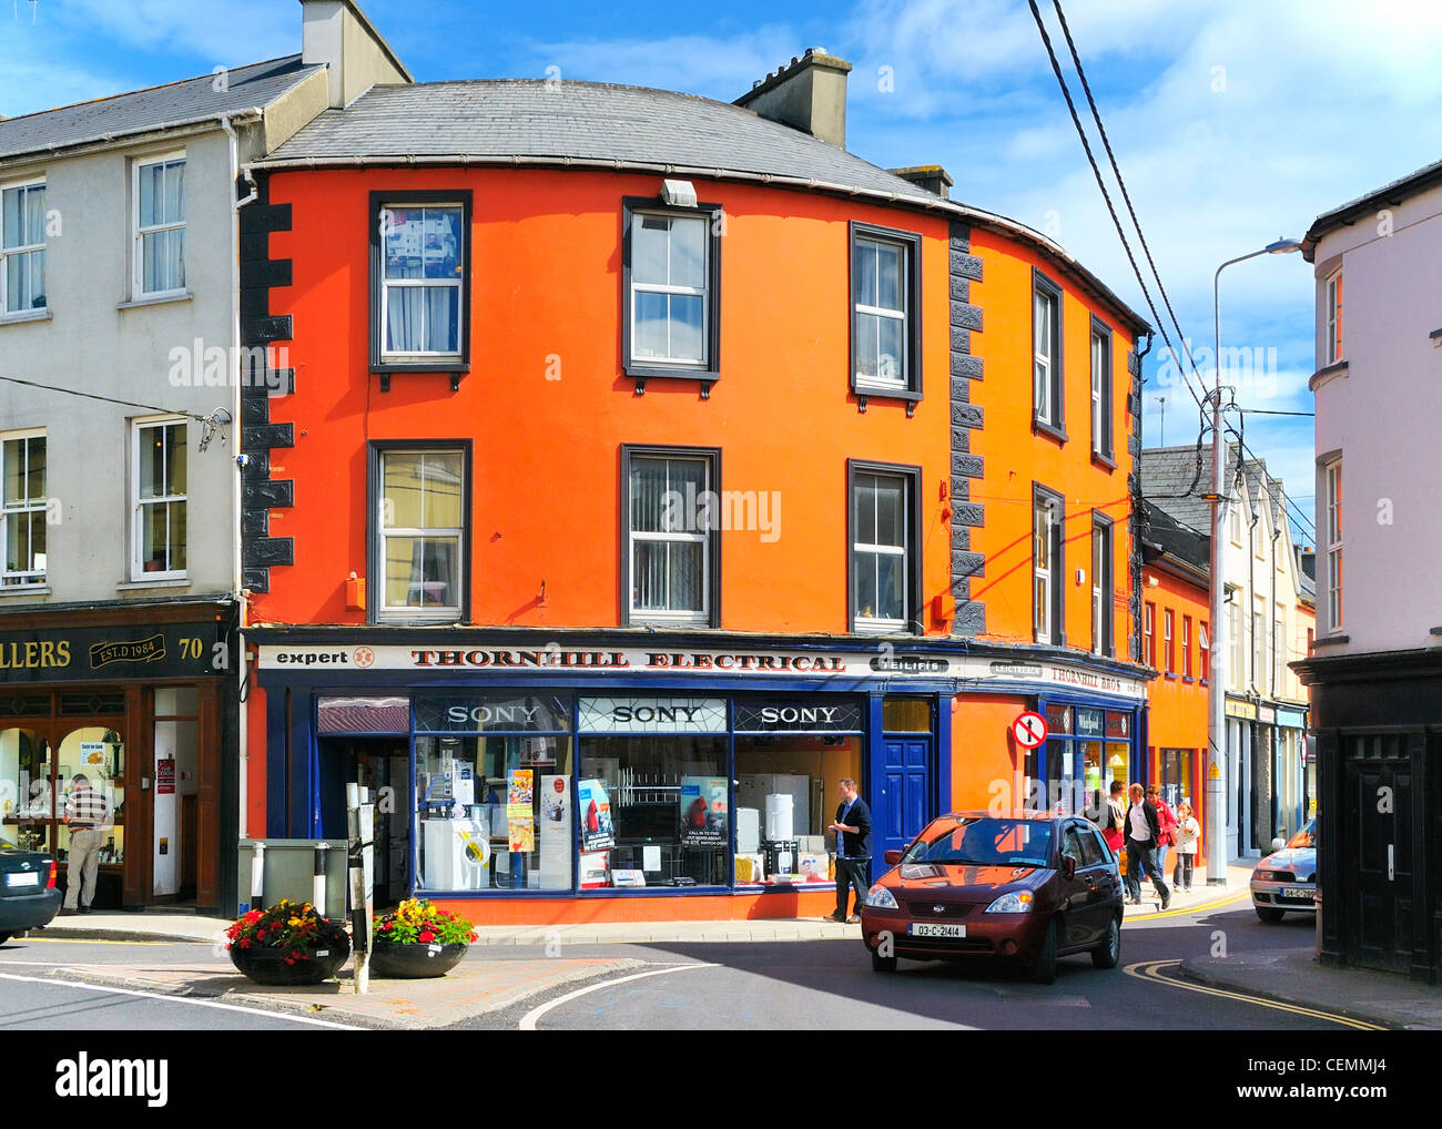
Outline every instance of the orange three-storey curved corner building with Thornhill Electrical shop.
<svg viewBox="0 0 1442 1129">
<path fill-rule="evenodd" d="M 844 779 L 878 872 L 1135 771 L 1145 323 L 848 154 L 849 69 L 378 85 L 251 167 L 244 831 L 355 780 L 381 901 L 777 917 Z"/>
</svg>

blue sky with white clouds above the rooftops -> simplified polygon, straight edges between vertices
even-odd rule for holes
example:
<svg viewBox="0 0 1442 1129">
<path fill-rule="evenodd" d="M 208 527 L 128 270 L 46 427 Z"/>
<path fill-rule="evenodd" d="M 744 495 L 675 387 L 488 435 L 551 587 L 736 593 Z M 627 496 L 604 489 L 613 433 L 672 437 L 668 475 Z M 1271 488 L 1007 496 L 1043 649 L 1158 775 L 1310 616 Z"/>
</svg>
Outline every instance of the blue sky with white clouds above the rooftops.
<svg viewBox="0 0 1442 1129">
<path fill-rule="evenodd" d="M 884 167 L 945 164 L 955 199 L 1047 231 L 1146 313 L 1021 0 L 362 7 L 420 81 L 542 78 L 555 66 L 562 79 L 731 101 L 792 55 L 823 46 L 855 63 L 849 150 Z M 1064 55 L 1050 0 L 1041 7 Z M 1218 262 L 1279 235 L 1299 238 L 1319 212 L 1442 157 L 1442 4 L 1432 0 L 1064 7 L 1194 346 L 1210 346 Z M 298 48 L 296 0 L 0 0 L 0 114 Z M 1311 411 L 1312 303 L 1299 255 L 1223 275 L 1223 345 L 1255 350 L 1262 366 L 1240 381 L 1243 407 Z M 1194 441 L 1198 409 L 1159 369 L 1162 352 L 1158 340 L 1146 363 L 1146 443 Z M 1309 515 L 1311 421 L 1249 415 L 1246 437 Z"/>
</svg>

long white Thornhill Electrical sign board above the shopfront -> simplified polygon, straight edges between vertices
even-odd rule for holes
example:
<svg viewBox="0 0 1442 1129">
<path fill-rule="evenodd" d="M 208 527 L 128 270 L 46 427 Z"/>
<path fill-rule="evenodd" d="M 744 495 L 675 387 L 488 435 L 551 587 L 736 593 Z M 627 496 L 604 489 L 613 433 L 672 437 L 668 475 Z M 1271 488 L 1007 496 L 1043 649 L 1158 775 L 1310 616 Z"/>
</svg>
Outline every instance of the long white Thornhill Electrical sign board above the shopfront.
<svg viewBox="0 0 1442 1129">
<path fill-rule="evenodd" d="M 1141 679 L 1089 669 L 1083 665 L 994 662 L 973 655 L 907 655 L 820 650 L 647 650 L 645 647 L 414 647 L 401 645 L 261 645 L 262 670 L 307 669 L 313 673 L 410 670 L 435 675 L 704 675 L 744 678 L 952 678 L 986 683 L 1022 682 L 1092 689 L 1145 698 Z"/>
</svg>

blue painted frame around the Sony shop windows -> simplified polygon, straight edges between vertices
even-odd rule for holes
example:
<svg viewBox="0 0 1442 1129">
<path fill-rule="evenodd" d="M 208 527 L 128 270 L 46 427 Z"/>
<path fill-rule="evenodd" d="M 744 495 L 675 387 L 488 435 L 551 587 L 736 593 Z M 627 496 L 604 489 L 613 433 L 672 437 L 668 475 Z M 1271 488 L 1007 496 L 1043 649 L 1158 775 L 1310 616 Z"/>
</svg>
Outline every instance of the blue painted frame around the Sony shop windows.
<svg viewBox="0 0 1442 1129">
<path fill-rule="evenodd" d="M 320 675 L 320 678 L 316 678 Z M 395 672 L 340 672 L 340 670 L 267 670 L 262 676 L 265 688 L 265 735 L 267 735 L 267 792 L 265 792 L 265 832 L 271 838 L 317 838 L 322 820 L 320 796 L 320 741 L 329 738 L 391 738 L 405 741 L 410 756 L 411 780 L 415 780 L 415 740 L 417 737 L 434 735 L 431 731 L 417 731 L 414 721 L 414 701 L 411 705 L 411 731 L 394 734 L 346 734 L 324 732 L 319 730 L 317 705 L 322 696 L 333 694 L 356 694 L 366 696 L 405 696 L 414 699 L 421 694 L 464 694 L 483 691 L 538 691 L 567 694 L 571 698 L 571 728 L 570 731 L 555 731 L 538 734 L 528 731 L 528 735 L 568 737 L 571 748 L 571 782 L 575 786 L 580 770 L 580 741 L 587 734 L 580 730 L 578 699 L 583 695 L 675 695 L 675 696 L 724 696 L 727 699 L 727 763 L 730 769 L 728 810 L 735 812 L 735 704 L 748 698 L 777 698 L 796 696 L 808 699 L 825 699 L 828 696 L 849 696 L 862 699 L 864 728 L 849 731 L 846 735 L 861 737 L 861 780 L 868 790 L 864 797 L 881 797 L 885 790 L 883 758 L 877 756 L 883 738 L 883 704 L 887 696 L 927 698 L 932 702 L 932 766 L 927 792 L 927 818 L 934 818 L 942 812 L 942 797 L 949 793 L 952 774 L 952 725 L 949 702 L 955 686 L 946 681 L 921 679 L 893 679 L 878 678 L 846 678 L 846 679 L 815 679 L 815 678 L 766 678 L 747 679 L 698 679 L 678 676 L 636 676 L 604 678 L 604 676 L 525 676 L 523 673 L 485 675 L 467 672 L 466 676 L 427 676 L 410 670 Z M 496 737 L 506 735 L 503 730 L 485 730 L 474 732 L 447 731 L 451 737 Z M 640 734 L 637 734 L 640 735 Z M 741 735 L 746 735 L 744 732 Z M 574 792 L 572 792 L 574 794 Z M 871 800 L 868 799 L 868 803 Z M 872 810 L 880 810 L 880 805 L 872 803 Z M 487 891 L 453 891 L 453 890 L 424 890 L 417 887 L 417 829 L 418 806 L 412 796 L 410 812 L 411 852 L 407 864 L 407 888 L 415 895 L 444 897 L 446 900 L 489 900 L 489 898 L 609 898 L 609 897 L 695 897 L 695 895 L 728 895 L 728 894 L 795 894 L 808 890 L 826 890 L 831 882 L 787 884 L 787 885 L 737 885 L 735 884 L 735 851 L 734 823 L 731 826 L 731 844 L 725 849 L 727 885 L 705 887 L 645 887 L 645 888 L 594 888 L 581 890 L 580 880 L 580 839 L 572 836 L 571 875 L 572 884 L 568 890 L 487 890 Z M 828 820 L 829 822 L 829 820 Z M 875 818 L 874 818 L 875 822 Z M 874 833 L 872 839 L 872 877 L 885 869 L 884 835 Z"/>
</svg>

